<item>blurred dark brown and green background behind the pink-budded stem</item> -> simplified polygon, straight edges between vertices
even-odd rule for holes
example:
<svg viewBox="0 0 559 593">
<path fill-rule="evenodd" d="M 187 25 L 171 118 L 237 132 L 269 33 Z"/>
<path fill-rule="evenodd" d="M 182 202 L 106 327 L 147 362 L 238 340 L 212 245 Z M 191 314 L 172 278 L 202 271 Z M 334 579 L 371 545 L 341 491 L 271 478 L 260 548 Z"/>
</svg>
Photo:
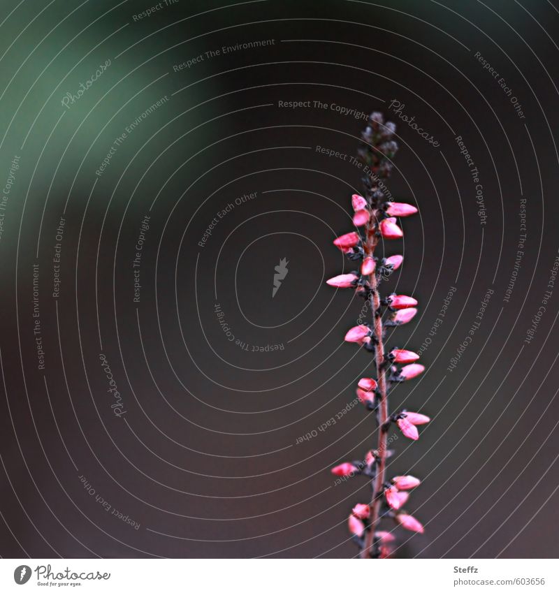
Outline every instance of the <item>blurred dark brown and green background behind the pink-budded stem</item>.
<svg viewBox="0 0 559 593">
<path fill-rule="evenodd" d="M 395 555 L 558 555 L 555 0 L 0 6 L 3 557 L 356 554 L 369 486 L 330 468 L 376 441 L 344 412 L 371 358 L 324 281 L 364 121 L 336 106 L 398 125 L 420 209 L 385 246 L 427 367 L 391 405 L 433 418 L 394 443 L 426 525 Z"/>
</svg>

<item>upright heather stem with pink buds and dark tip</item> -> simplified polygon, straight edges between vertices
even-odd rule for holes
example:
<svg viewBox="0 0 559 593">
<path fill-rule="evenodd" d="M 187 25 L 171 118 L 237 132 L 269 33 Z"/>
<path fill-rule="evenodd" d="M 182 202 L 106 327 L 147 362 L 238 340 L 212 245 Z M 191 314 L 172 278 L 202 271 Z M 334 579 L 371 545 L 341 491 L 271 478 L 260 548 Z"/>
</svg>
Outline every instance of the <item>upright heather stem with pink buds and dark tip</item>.
<svg viewBox="0 0 559 593">
<path fill-rule="evenodd" d="M 356 504 L 348 519 L 351 536 L 360 548 L 361 558 L 386 558 L 392 553 L 395 537 L 379 529 L 381 520 L 393 519 L 396 525 L 411 532 L 423 533 L 423 526 L 403 510 L 409 490 L 420 481 L 414 476 L 395 476 L 386 481 L 386 459 L 391 451 L 386 448 L 387 432 L 394 424 L 408 439 L 419 439 L 418 426 L 430 418 L 421 413 L 400 410 L 389 413 L 389 393 L 402 381 L 414 379 L 425 367 L 416 361 L 419 355 L 400 348 L 386 349 L 387 328 L 412 321 L 417 313 L 417 301 L 412 296 L 379 293 L 379 284 L 402 265 L 401 255 L 379 258 L 375 249 L 383 240 L 400 239 L 403 231 L 398 218 L 417 212 L 411 204 L 386 199 L 382 179 L 391 174 L 392 159 L 398 150 L 393 139 L 395 126 L 384 123 L 379 113 L 372 113 L 362 133 L 358 159 L 365 171 L 363 196 L 351 196 L 354 210 L 353 223 L 357 230 L 337 237 L 335 246 L 351 261 L 361 262 L 358 270 L 340 274 L 327 281 L 335 288 L 352 288 L 370 307 L 370 321 L 350 328 L 345 341 L 358 344 L 372 353 L 376 379 L 365 376 L 356 388 L 358 400 L 374 414 L 377 421 L 378 441 L 368 451 L 364 461 L 344 462 L 332 468 L 336 476 L 365 476 L 370 480 L 372 496 L 368 504 Z"/>
</svg>

